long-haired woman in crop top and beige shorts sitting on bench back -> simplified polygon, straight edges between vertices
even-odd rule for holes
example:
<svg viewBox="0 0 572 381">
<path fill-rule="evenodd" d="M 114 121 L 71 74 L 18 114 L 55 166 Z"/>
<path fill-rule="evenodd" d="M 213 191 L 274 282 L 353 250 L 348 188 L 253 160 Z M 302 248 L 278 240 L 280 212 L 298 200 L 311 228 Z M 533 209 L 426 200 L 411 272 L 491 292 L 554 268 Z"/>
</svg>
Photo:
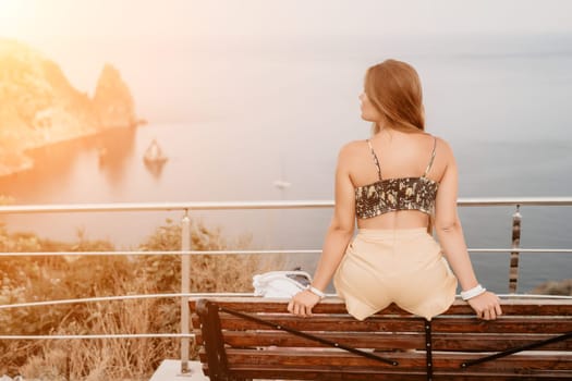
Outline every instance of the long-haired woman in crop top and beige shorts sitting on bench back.
<svg viewBox="0 0 572 381">
<path fill-rule="evenodd" d="M 451 306 L 459 280 L 476 315 L 496 319 L 499 298 L 478 284 L 458 217 L 453 153 L 424 132 L 417 73 L 395 60 L 372 66 L 360 100 L 362 119 L 374 123 L 373 137 L 339 153 L 322 255 L 312 285 L 294 295 L 289 311 L 311 316 L 333 276 L 356 319 L 395 303 L 430 320 Z M 440 245 L 429 234 L 433 226 Z"/>
</svg>

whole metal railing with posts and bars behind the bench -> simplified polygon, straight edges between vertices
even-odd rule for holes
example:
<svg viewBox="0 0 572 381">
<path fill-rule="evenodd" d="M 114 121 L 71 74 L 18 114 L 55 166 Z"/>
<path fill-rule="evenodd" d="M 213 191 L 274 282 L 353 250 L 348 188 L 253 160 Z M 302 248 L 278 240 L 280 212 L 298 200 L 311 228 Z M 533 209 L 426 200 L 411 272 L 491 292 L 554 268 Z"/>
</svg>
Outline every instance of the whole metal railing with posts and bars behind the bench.
<svg viewBox="0 0 572 381">
<path fill-rule="evenodd" d="M 510 253 L 510 295 L 516 291 L 519 255 L 521 253 L 562 253 L 570 254 L 572 248 L 521 248 L 520 224 L 521 206 L 572 206 L 572 197 L 514 197 L 514 198 L 461 198 L 460 207 L 515 207 L 512 224 L 512 246 L 510 248 L 470 248 L 470 253 Z M 191 293 L 191 259 L 192 255 L 246 255 L 246 254 L 319 254 L 319 249 L 280 249 L 280 250 L 192 250 L 190 231 L 190 211 L 196 210 L 255 210 L 255 209 L 328 209 L 333 207 L 330 200 L 299 200 L 299 201 L 235 201 L 235 202 L 138 202 L 138 204 L 81 204 L 81 205 L 32 205 L 32 206 L 0 206 L 1 214 L 41 214 L 41 213 L 75 213 L 75 212 L 127 212 L 127 211 L 181 211 L 182 244 L 181 250 L 175 251 L 41 251 L 41 253 L 0 253 L 0 257 L 29 257 L 29 256 L 145 256 L 145 255 L 180 255 L 181 256 L 181 293 L 153 295 L 119 295 L 108 297 L 93 297 L 65 300 L 47 300 L 0 305 L 0 311 L 9 308 L 52 306 L 74 303 L 95 303 L 109 300 L 143 299 L 143 298 L 181 298 L 181 333 L 138 333 L 138 334 L 90 334 L 90 335 L 2 335 L 1 340 L 47 340 L 47 339 L 137 339 L 137 337 L 179 337 L 181 339 L 181 372 L 188 373 L 190 340 L 194 334 L 190 332 L 188 298 L 204 295 L 252 295 L 252 294 L 222 294 L 222 293 Z M 531 295 L 527 295 L 531 296 Z"/>
</svg>

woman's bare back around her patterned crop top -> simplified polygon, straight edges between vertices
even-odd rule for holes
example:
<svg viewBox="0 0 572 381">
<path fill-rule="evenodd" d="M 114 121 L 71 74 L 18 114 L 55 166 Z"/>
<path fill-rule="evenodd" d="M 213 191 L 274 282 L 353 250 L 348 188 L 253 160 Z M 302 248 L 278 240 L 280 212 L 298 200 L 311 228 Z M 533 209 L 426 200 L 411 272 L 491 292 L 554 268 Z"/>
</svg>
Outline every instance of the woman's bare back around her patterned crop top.
<svg viewBox="0 0 572 381">
<path fill-rule="evenodd" d="M 428 185 L 436 187 L 445 173 L 449 157 L 448 149 L 442 140 L 440 142 L 425 133 L 402 133 L 398 131 L 380 132 L 369 142 L 354 142 L 351 152 L 350 179 L 357 190 L 367 190 L 368 186 L 376 185 L 380 181 L 385 182 L 380 184 L 381 188 L 387 188 L 390 185 L 387 181 L 395 179 L 411 179 L 411 181 L 416 182 L 417 179 L 426 177 L 430 183 Z M 403 188 L 399 182 L 393 182 L 393 185 Z M 414 188 L 415 192 L 418 192 L 417 186 Z M 366 196 L 367 192 L 363 192 L 363 194 Z M 423 195 L 423 197 L 430 198 L 431 196 Z M 392 201 L 392 199 L 387 201 Z M 433 201 L 430 200 L 428 204 L 433 204 Z M 360 204 L 367 202 L 358 199 L 357 204 L 360 207 Z M 360 218 L 360 210 L 357 210 L 358 228 L 410 229 L 424 228 L 428 224 L 427 211 L 421 211 L 422 208 L 417 206 L 410 206 L 405 210 L 397 211 L 390 209 L 382 210 L 381 213 L 378 211 L 375 213 L 378 216 L 365 219 Z"/>
</svg>

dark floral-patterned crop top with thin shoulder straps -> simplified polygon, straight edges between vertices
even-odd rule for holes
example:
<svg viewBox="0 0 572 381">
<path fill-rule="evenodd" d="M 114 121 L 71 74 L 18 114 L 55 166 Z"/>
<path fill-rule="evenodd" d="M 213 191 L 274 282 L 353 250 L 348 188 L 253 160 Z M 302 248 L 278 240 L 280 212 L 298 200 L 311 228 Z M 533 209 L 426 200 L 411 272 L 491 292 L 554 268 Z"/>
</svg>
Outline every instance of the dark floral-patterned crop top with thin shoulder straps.
<svg viewBox="0 0 572 381">
<path fill-rule="evenodd" d="M 435 211 L 435 198 L 439 183 L 427 177 L 435 159 L 437 138 L 425 173 L 421 177 L 381 179 L 381 168 L 372 142 L 367 140 L 377 167 L 379 180 L 373 184 L 355 188 L 355 213 L 357 218 L 368 219 L 390 211 L 419 210 L 427 214 Z"/>
</svg>

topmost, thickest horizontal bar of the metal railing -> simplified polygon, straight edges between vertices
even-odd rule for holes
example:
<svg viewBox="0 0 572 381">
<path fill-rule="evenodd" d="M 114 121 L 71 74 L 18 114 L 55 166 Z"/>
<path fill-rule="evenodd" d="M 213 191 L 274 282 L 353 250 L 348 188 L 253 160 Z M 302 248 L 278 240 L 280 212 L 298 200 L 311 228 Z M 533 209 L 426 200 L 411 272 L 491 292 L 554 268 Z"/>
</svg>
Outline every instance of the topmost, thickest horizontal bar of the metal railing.
<svg viewBox="0 0 572 381">
<path fill-rule="evenodd" d="M 459 198 L 461 207 L 480 206 L 572 206 L 572 197 L 483 197 Z M 107 212 L 107 211 L 173 211 L 173 210 L 248 210 L 248 209 L 316 209 L 331 208 L 332 200 L 219 201 L 219 202 L 117 202 L 53 204 L 0 206 L 0 214 Z"/>
</svg>

